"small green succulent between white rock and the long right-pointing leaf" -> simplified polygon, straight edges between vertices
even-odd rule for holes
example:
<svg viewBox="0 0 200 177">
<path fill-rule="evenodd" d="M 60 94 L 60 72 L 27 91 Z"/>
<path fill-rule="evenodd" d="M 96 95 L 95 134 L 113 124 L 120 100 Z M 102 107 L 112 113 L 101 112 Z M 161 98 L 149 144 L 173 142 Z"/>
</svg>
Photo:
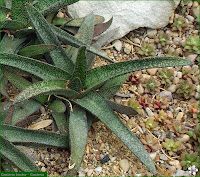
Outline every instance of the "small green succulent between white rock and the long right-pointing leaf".
<svg viewBox="0 0 200 177">
<path fill-rule="evenodd" d="M 136 47 L 136 52 L 143 57 L 154 56 L 154 46 L 148 43 L 143 43 L 142 47 Z"/>
</svg>

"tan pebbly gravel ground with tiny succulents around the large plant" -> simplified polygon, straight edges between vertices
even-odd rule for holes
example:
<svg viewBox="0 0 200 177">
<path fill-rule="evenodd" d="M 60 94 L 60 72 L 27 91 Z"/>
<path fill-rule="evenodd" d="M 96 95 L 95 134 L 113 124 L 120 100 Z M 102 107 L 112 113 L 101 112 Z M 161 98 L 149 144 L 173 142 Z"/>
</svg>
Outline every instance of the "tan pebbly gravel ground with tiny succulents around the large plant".
<svg viewBox="0 0 200 177">
<path fill-rule="evenodd" d="M 168 26 L 157 30 L 140 28 L 102 48 L 102 51 L 116 62 L 139 59 L 147 52 L 148 56 L 176 55 L 194 63 L 186 67 L 134 72 L 113 98 L 113 101 L 124 105 L 127 105 L 130 99 L 135 100 L 138 115 L 117 114 L 143 143 L 153 159 L 159 176 L 191 175 L 191 170 L 181 163 L 183 161 L 181 155 L 199 153 L 199 135 L 191 134 L 199 124 L 199 51 L 195 49 L 188 51 L 184 47 L 190 36 L 199 38 L 198 8 L 197 1 L 182 2 Z M 181 22 L 183 23 L 181 27 L 173 25 L 178 18 L 184 21 Z M 167 35 L 164 37 L 164 44 L 160 41 L 163 35 Z M 143 49 L 144 44 L 152 47 Z M 97 57 L 93 67 L 105 64 L 106 61 Z M 185 86 L 185 90 L 181 89 L 183 82 L 191 87 Z M 151 87 L 152 84 L 155 87 Z M 37 122 L 51 118 L 48 110 L 43 108 L 41 111 L 42 115 Z M 52 131 L 52 127 L 46 127 L 45 130 Z M 170 152 L 163 144 L 166 139 L 179 141 L 179 148 Z M 27 154 L 33 158 L 41 171 L 46 171 L 51 176 L 65 176 L 70 168 L 73 168 L 69 164 L 69 150 L 28 149 Z M 153 174 L 103 123 L 97 122 L 89 131 L 85 155 L 77 175 L 152 176 Z M 199 172 L 193 175 L 199 176 Z"/>
</svg>

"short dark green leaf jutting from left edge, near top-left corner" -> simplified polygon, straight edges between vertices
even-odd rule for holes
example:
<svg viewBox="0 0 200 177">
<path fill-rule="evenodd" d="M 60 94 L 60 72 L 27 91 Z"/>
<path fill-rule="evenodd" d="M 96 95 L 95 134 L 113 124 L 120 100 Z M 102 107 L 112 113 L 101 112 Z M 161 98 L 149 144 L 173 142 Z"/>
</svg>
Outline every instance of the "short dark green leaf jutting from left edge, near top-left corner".
<svg viewBox="0 0 200 177">
<path fill-rule="evenodd" d="M 17 20 L 2 20 L 1 21 L 1 29 L 15 31 L 15 30 L 19 30 L 25 27 L 26 27 L 26 24 L 21 21 L 17 21 Z"/>
</svg>

